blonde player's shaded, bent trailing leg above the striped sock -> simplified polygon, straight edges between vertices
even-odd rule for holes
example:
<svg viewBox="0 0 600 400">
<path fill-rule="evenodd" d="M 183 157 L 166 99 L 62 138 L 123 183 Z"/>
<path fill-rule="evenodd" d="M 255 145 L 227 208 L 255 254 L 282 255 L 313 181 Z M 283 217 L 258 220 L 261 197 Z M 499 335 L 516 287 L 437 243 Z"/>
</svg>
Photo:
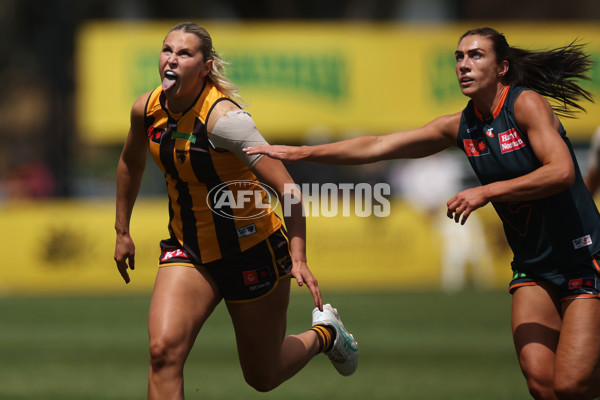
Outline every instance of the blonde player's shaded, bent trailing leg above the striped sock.
<svg viewBox="0 0 600 400">
<path fill-rule="evenodd" d="M 244 378 L 261 392 L 294 376 L 319 352 L 313 331 L 285 336 L 289 296 L 290 279 L 283 279 L 263 299 L 227 303 Z"/>
</svg>

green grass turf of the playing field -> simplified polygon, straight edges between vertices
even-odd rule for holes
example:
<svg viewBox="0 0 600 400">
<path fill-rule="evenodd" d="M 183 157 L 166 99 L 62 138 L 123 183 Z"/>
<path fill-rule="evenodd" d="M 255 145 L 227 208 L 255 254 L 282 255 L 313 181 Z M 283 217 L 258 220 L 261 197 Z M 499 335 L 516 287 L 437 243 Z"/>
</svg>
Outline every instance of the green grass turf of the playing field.
<svg viewBox="0 0 600 400">
<path fill-rule="evenodd" d="M 220 305 L 185 371 L 187 399 L 529 399 L 505 292 L 329 293 L 360 346 L 351 377 L 323 355 L 263 394 L 242 378 Z M 0 399 L 144 399 L 149 296 L 0 299 Z M 310 325 L 295 292 L 288 332 Z"/>
</svg>

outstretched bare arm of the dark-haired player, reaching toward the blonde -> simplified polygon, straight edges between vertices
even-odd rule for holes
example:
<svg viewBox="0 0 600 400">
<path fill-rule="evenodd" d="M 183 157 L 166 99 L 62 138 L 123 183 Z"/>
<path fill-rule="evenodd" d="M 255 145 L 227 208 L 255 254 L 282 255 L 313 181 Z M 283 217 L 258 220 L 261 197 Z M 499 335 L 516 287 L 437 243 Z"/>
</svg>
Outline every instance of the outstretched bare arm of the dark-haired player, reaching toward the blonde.
<svg viewBox="0 0 600 400">
<path fill-rule="evenodd" d="M 436 118 L 410 131 L 382 136 L 360 136 L 316 146 L 260 145 L 244 151 L 265 154 L 287 162 L 314 161 L 327 164 L 369 164 L 396 158 L 420 158 L 456 146 L 460 113 Z"/>
</svg>

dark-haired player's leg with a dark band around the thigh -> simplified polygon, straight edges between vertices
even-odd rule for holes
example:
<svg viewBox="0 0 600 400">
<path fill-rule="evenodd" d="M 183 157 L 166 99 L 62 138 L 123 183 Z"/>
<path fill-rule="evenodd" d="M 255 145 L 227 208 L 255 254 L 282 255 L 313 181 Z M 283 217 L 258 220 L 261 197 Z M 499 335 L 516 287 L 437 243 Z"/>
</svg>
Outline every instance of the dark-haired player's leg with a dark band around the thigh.
<svg viewBox="0 0 600 400">
<path fill-rule="evenodd" d="M 550 286 L 524 286 L 515 291 L 513 340 L 529 392 L 535 399 L 556 399 L 554 363 L 560 329 L 560 304 Z"/>
</svg>

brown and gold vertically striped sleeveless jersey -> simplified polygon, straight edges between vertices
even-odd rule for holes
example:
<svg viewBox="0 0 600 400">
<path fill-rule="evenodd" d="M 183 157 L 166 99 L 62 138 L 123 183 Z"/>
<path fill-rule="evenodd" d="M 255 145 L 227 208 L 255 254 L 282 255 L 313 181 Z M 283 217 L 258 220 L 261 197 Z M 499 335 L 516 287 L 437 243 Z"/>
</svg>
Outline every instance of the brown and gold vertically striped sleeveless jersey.
<svg viewBox="0 0 600 400">
<path fill-rule="evenodd" d="M 207 82 L 185 112 L 167 111 L 161 86 L 146 105 L 150 153 L 167 184 L 169 233 L 197 263 L 239 254 L 281 227 L 252 171 L 210 143 L 206 121 L 223 100 L 231 101 Z"/>
</svg>

